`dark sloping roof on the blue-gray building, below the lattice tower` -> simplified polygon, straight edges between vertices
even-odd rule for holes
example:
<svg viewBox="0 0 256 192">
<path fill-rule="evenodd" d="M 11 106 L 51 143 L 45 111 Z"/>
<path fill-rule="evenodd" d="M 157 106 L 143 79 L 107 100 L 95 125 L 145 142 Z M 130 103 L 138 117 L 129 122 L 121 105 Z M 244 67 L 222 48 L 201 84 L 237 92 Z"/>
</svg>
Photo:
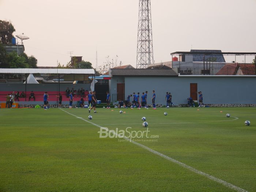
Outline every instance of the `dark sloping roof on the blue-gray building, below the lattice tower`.
<svg viewBox="0 0 256 192">
<path fill-rule="evenodd" d="M 172 69 L 110 69 L 112 76 L 178 76 Z"/>
</svg>

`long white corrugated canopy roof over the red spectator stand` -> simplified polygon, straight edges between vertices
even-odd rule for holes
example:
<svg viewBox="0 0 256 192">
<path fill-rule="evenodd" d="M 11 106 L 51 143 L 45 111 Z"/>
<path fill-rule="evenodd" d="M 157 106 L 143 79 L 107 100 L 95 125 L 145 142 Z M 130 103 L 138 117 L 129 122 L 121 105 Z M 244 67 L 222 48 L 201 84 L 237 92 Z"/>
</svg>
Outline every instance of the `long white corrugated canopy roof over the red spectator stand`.
<svg viewBox="0 0 256 192">
<path fill-rule="evenodd" d="M 94 69 L 0 69 L 0 73 L 11 74 L 95 74 Z"/>
</svg>

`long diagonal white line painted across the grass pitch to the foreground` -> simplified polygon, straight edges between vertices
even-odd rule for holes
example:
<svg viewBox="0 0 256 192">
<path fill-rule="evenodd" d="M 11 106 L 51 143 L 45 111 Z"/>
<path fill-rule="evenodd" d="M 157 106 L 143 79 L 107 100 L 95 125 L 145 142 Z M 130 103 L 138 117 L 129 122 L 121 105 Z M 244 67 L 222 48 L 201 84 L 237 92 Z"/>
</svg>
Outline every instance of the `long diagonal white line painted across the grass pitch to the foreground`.
<svg viewBox="0 0 256 192">
<path fill-rule="evenodd" d="M 72 116 L 78 118 L 78 116 L 76 116 L 76 115 L 74 115 L 74 114 L 71 114 L 71 113 L 69 113 L 69 112 L 67 112 L 67 111 L 65 111 L 65 110 L 63 110 L 63 109 L 61 109 L 61 108 L 59 108 L 59 109 L 62 110 L 62 111 L 64 111 L 64 112 L 66 112 L 66 113 L 69 114 L 69 115 L 72 115 Z M 87 123 L 93 124 L 93 125 L 96 126 L 96 127 L 99 127 L 99 128 L 105 129 L 106 131 L 112 132 L 114 135 L 116 135 L 116 132 L 114 132 L 113 130 L 112 130 L 112 131 L 111 131 L 111 130 L 108 130 L 108 128 L 99 126 L 98 124 L 95 124 L 95 123 L 93 123 L 93 122 L 90 122 L 90 121 L 88 121 L 88 120 L 86 120 L 86 119 L 83 119 L 83 118 L 80 118 L 80 119 L 83 120 L 83 121 L 85 121 L 85 122 L 87 122 Z M 168 157 L 167 155 L 164 155 L 164 154 L 162 154 L 162 153 L 159 153 L 158 151 L 155 151 L 155 150 L 153 150 L 153 149 L 151 149 L 151 148 L 149 148 L 149 147 L 147 147 L 147 146 L 144 146 L 144 145 L 142 145 L 142 144 L 140 144 L 140 143 L 137 143 L 137 142 L 135 142 L 135 141 L 132 141 L 131 139 L 129 139 L 129 138 L 127 138 L 127 137 L 123 137 L 123 136 L 121 136 L 121 135 L 119 135 L 119 134 L 118 134 L 118 136 L 119 136 L 119 137 L 122 137 L 122 138 L 124 138 L 124 139 L 126 139 L 127 141 L 129 141 L 129 142 L 131 142 L 131 143 L 133 143 L 133 144 L 135 144 L 135 145 L 137 145 L 137 146 L 139 146 L 139 147 L 142 147 L 143 149 L 146 149 L 146 150 L 150 151 L 151 153 L 154 153 L 154 154 L 156 154 L 156 155 L 159 155 L 160 157 L 163 157 L 163 158 L 165 158 L 165 159 L 168 160 L 168 161 L 174 162 L 174 163 L 176 163 L 176 164 L 178 164 L 178 165 L 180 165 L 180 166 L 182 166 L 182 167 L 184 167 L 184 168 L 186 168 L 186 169 L 189 169 L 189 170 L 191 170 L 191 171 L 194 172 L 194 173 L 197 173 L 197 174 L 200 174 L 200 175 L 202 175 L 202 176 L 205 176 L 205 177 L 209 178 L 209 179 L 212 180 L 212 181 L 216 181 L 216 182 L 218 182 L 218 183 L 220 183 L 220 184 L 222 184 L 222 185 L 225 185 L 226 187 L 229 187 L 229 188 L 234 189 L 234 190 L 239 191 L 239 192 L 246 192 L 246 191 L 245 191 L 244 189 L 242 189 L 242 188 L 239 188 L 239 187 L 237 187 L 237 186 L 235 186 L 235 185 L 233 185 L 233 184 L 231 184 L 231 183 L 228 183 L 228 182 L 226 182 L 226 181 L 223 181 L 223 180 L 221 180 L 221 179 L 219 179 L 219 178 L 217 178 L 217 177 L 211 176 L 211 175 L 209 175 L 209 174 L 207 174 L 207 173 L 204 173 L 204 172 L 199 171 L 199 170 L 197 170 L 197 169 L 195 169 L 195 168 L 192 168 L 191 166 L 188 166 L 188 165 L 186 165 L 186 164 L 184 164 L 184 163 L 182 163 L 182 162 L 180 162 L 180 161 L 177 161 L 177 160 L 175 160 L 175 159 L 173 159 L 173 158 L 171 158 L 171 157 Z"/>
</svg>

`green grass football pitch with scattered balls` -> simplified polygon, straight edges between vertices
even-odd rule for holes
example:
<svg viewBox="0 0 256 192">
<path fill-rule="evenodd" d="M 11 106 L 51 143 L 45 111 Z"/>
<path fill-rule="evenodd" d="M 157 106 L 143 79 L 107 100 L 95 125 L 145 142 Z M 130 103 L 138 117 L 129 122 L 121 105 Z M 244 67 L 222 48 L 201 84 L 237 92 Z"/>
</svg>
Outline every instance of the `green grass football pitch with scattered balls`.
<svg viewBox="0 0 256 192">
<path fill-rule="evenodd" d="M 138 143 L 256 191 L 256 108 L 123 109 L 126 114 L 99 108 L 92 120 L 86 109 L 63 110 L 70 114 L 54 108 L 0 109 L 1 192 L 235 191 L 123 138 L 99 138 L 100 128 L 89 123 L 145 131 L 143 116 L 148 136 L 159 138 Z"/>
</svg>

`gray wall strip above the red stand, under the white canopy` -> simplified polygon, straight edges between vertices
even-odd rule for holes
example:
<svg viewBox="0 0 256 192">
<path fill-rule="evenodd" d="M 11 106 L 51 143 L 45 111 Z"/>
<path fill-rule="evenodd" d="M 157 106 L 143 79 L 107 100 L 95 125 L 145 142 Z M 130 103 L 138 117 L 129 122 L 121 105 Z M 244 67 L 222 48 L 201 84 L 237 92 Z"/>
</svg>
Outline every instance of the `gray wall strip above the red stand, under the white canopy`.
<svg viewBox="0 0 256 192">
<path fill-rule="evenodd" d="M 60 91 L 65 91 L 67 87 L 89 90 L 90 86 L 91 84 L 60 84 Z M 0 91 L 25 91 L 25 84 L 0 84 Z M 30 91 L 57 91 L 57 84 L 27 84 L 27 92 Z"/>
</svg>

